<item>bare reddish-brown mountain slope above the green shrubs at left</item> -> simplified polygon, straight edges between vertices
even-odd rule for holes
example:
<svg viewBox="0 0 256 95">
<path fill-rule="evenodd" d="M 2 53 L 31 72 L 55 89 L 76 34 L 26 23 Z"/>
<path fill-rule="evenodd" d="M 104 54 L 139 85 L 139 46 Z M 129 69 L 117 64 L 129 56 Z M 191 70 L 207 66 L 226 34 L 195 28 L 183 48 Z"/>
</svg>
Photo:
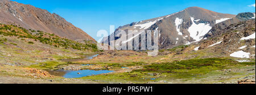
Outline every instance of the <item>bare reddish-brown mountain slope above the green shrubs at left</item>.
<svg viewBox="0 0 256 95">
<path fill-rule="evenodd" d="M 87 33 L 57 14 L 9 0 L 0 1 L 0 23 L 14 23 L 26 29 L 54 33 L 70 40 L 96 42 Z"/>
</svg>

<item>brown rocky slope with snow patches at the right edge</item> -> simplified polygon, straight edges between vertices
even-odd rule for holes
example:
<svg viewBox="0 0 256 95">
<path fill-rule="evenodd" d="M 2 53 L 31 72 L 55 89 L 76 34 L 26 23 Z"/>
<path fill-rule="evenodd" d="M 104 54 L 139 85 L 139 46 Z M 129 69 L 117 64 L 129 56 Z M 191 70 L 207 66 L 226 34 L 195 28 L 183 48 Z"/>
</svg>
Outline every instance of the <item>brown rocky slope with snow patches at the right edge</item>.
<svg viewBox="0 0 256 95">
<path fill-rule="evenodd" d="M 208 36 L 195 46 L 194 50 L 210 49 L 234 58 L 255 59 L 255 20 L 240 21 Z"/>
</svg>

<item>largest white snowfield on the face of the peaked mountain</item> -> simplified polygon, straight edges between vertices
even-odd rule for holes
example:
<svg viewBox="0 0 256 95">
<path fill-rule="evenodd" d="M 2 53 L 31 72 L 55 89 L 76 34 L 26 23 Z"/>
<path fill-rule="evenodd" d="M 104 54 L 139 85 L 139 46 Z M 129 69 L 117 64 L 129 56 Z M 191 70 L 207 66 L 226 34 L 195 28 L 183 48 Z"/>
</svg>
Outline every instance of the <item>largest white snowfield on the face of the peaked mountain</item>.
<svg viewBox="0 0 256 95">
<path fill-rule="evenodd" d="M 196 24 L 194 22 L 194 18 L 191 17 L 192 25 L 188 28 L 188 32 L 190 33 L 190 36 L 197 41 L 200 41 L 203 39 L 203 36 L 207 34 L 212 27 L 210 27 L 210 24 L 205 23 L 199 23 Z"/>
</svg>

